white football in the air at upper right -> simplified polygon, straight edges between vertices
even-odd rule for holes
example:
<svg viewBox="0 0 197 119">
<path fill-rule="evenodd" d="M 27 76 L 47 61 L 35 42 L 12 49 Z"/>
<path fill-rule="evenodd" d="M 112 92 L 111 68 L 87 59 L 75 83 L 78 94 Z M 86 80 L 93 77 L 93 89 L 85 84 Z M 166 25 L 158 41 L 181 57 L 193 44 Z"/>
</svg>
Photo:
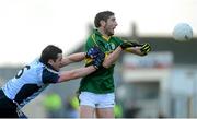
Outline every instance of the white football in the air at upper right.
<svg viewBox="0 0 197 119">
<path fill-rule="evenodd" d="M 193 38 L 193 28 L 187 23 L 179 23 L 174 26 L 173 38 L 177 41 L 187 41 Z"/>
</svg>

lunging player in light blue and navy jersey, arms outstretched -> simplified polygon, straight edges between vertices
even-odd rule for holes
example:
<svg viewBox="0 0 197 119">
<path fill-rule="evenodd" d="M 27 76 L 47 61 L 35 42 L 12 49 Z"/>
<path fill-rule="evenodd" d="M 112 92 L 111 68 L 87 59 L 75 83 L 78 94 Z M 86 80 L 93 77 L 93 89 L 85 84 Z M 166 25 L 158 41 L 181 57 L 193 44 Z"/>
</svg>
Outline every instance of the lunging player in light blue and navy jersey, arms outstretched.
<svg viewBox="0 0 197 119">
<path fill-rule="evenodd" d="M 96 51 L 95 51 L 96 50 Z M 59 72 L 60 68 L 95 56 L 93 64 L 71 71 Z M 21 108 L 40 94 L 49 84 L 85 76 L 102 67 L 104 53 L 92 48 L 88 53 L 78 52 L 62 58 L 62 50 L 54 45 L 47 46 L 39 59 L 25 66 L 0 88 L 0 118 L 25 117 Z"/>
</svg>

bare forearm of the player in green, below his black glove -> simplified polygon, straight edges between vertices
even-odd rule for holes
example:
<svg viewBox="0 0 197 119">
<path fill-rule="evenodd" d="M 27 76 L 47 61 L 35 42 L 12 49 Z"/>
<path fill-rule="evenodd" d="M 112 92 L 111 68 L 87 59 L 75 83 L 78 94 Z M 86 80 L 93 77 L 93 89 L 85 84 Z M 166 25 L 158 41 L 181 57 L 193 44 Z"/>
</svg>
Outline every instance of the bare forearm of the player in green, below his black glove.
<svg viewBox="0 0 197 119">
<path fill-rule="evenodd" d="M 119 58 L 120 53 L 121 53 L 123 49 L 118 46 L 112 53 L 109 53 L 104 62 L 103 62 L 103 67 L 104 68 L 109 68 L 112 64 L 114 64 L 114 62 L 117 61 L 117 59 Z"/>
</svg>

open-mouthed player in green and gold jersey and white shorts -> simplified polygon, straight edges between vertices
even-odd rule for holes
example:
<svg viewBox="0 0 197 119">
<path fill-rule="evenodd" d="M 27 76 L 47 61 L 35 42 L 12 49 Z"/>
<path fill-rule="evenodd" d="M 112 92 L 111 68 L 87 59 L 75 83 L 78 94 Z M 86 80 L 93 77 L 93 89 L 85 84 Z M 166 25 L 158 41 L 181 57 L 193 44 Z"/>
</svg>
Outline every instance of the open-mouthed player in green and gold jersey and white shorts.
<svg viewBox="0 0 197 119">
<path fill-rule="evenodd" d="M 144 56 L 150 51 L 150 45 L 139 45 L 131 41 L 124 41 L 113 36 L 117 26 L 116 17 L 111 11 L 103 11 L 94 19 L 96 29 L 89 36 L 85 50 L 92 47 L 100 47 L 105 53 L 103 68 L 84 76 L 79 88 L 80 117 L 81 118 L 114 118 L 114 67 L 123 50 Z M 86 59 L 85 67 L 92 63 L 91 58 Z M 95 112 L 95 114 L 94 114 Z"/>
</svg>

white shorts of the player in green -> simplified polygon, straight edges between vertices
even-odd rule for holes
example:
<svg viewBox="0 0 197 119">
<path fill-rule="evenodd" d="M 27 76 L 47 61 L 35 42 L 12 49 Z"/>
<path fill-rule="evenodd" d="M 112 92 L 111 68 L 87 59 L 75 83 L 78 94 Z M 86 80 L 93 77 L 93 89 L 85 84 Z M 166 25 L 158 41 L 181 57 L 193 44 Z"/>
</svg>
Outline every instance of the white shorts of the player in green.
<svg viewBox="0 0 197 119">
<path fill-rule="evenodd" d="M 115 105 L 115 94 L 94 94 L 91 92 L 81 92 L 79 95 L 80 105 L 91 106 L 94 108 L 108 108 Z"/>
</svg>

